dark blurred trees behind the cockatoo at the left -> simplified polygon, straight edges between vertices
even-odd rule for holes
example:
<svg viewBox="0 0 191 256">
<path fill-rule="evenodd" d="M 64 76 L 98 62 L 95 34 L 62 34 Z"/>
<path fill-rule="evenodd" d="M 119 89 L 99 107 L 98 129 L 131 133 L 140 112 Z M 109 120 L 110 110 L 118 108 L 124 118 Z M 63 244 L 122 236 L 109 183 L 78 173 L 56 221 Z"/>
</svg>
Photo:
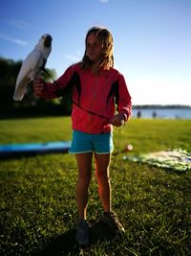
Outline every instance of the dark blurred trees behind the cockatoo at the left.
<svg viewBox="0 0 191 256">
<path fill-rule="evenodd" d="M 22 60 L 14 61 L 8 58 L 0 58 L 0 117 L 7 115 L 20 115 L 32 113 L 33 115 L 59 115 L 70 114 L 72 110 L 71 94 L 63 98 L 44 100 L 34 95 L 32 86 L 28 86 L 27 93 L 22 102 L 14 102 L 12 99 L 16 78 L 22 65 Z M 54 69 L 47 68 L 48 74 L 43 73 L 45 81 L 56 79 Z"/>
</svg>

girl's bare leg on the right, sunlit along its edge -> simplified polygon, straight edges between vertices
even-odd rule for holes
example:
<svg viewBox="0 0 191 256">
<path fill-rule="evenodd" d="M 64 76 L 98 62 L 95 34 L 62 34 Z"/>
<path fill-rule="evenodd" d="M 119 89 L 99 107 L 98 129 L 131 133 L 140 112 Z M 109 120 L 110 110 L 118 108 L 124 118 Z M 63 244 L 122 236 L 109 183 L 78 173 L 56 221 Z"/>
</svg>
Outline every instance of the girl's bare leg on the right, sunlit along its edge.
<svg viewBox="0 0 191 256">
<path fill-rule="evenodd" d="M 111 183 L 109 167 L 111 154 L 95 154 L 98 195 L 105 213 L 111 212 Z"/>
</svg>

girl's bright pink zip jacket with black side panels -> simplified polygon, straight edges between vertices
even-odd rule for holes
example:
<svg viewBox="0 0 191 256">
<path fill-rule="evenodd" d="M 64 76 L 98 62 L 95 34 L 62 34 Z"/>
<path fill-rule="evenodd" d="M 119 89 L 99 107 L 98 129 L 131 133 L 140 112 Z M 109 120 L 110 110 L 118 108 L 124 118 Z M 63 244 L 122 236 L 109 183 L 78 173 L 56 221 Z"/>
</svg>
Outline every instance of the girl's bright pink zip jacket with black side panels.
<svg viewBox="0 0 191 256">
<path fill-rule="evenodd" d="M 73 129 L 92 134 L 110 131 L 112 125 L 108 121 L 115 115 L 116 105 L 125 121 L 131 115 L 131 96 L 123 76 L 114 68 L 103 70 L 96 76 L 76 63 L 57 81 L 46 83 L 42 98 L 62 97 L 71 89 Z"/>
</svg>

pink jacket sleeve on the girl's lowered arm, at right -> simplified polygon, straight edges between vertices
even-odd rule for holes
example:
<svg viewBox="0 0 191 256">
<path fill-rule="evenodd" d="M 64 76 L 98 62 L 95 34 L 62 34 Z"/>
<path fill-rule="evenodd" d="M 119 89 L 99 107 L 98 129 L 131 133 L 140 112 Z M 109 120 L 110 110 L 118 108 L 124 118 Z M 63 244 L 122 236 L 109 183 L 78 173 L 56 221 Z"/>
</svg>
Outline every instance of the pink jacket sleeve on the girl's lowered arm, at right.
<svg viewBox="0 0 191 256">
<path fill-rule="evenodd" d="M 124 121 L 126 122 L 132 114 L 132 101 L 131 95 L 127 88 L 126 81 L 124 77 L 118 75 L 118 103 L 117 103 L 118 113 L 124 115 Z"/>
</svg>

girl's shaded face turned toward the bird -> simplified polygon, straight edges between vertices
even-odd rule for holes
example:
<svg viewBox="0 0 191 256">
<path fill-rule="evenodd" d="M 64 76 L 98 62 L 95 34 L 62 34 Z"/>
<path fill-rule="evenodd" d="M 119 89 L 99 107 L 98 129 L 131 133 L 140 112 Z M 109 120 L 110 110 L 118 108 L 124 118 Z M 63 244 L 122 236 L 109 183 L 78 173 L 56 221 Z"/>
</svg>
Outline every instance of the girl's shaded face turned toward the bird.
<svg viewBox="0 0 191 256">
<path fill-rule="evenodd" d="M 102 43 L 97 39 L 94 33 L 91 33 L 87 37 L 86 41 L 86 55 L 90 60 L 96 62 L 102 53 Z"/>
</svg>

